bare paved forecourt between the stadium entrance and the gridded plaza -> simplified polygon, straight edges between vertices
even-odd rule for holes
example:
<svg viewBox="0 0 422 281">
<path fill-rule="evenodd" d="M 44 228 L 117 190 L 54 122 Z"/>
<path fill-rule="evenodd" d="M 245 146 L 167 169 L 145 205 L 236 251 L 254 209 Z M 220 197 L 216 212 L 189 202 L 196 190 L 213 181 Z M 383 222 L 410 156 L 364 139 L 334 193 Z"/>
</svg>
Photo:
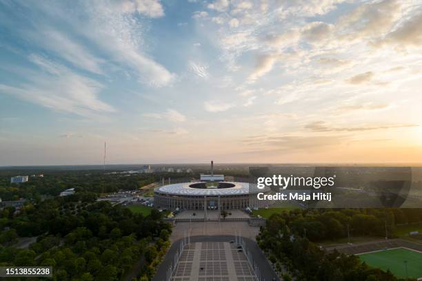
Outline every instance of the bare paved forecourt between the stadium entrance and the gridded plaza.
<svg viewBox="0 0 422 281">
<path fill-rule="evenodd" d="M 255 240 L 259 233 L 259 227 L 251 227 L 246 221 L 234 222 L 176 222 L 173 227 L 172 242 L 177 241 L 183 236 L 234 236 L 241 233 L 241 236 Z"/>
</svg>

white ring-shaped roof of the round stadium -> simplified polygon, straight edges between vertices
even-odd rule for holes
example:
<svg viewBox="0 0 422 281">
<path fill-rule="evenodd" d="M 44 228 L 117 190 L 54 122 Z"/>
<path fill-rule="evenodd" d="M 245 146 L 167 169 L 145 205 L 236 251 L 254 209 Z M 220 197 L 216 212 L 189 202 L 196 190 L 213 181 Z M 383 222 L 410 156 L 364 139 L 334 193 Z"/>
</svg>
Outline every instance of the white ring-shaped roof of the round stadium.
<svg viewBox="0 0 422 281">
<path fill-rule="evenodd" d="M 257 189 L 257 185 L 255 184 L 238 182 L 223 183 L 231 183 L 234 187 L 201 189 L 190 187 L 190 185 L 194 183 L 174 183 L 172 185 L 163 185 L 162 187 L 155 189 L 155 191 L 159 194 L 172 194 L 179 196 L 230 196 L 256 194 L 258 192 L 268 191 L 268 189 Z"/>
</svg>

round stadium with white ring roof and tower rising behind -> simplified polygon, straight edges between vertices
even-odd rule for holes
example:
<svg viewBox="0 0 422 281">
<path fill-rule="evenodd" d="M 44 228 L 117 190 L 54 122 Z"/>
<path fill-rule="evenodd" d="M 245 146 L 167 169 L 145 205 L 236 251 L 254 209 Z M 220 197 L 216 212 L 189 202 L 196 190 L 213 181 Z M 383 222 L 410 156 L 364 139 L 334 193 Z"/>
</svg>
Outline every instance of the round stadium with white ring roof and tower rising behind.
<svg viewBox="0 0 422 281">
<path fill-rule="evenodd" d="M 214 175 L 211 161 L 211 174 L 201 175 L 194 183 L 163 185 L 154 190 L 154 206 L 158 209 L 253 209 L 264 207 L 263 200 L 257 199 L 256 184 L 225 182 L 223 175 Z"/>
</svg>

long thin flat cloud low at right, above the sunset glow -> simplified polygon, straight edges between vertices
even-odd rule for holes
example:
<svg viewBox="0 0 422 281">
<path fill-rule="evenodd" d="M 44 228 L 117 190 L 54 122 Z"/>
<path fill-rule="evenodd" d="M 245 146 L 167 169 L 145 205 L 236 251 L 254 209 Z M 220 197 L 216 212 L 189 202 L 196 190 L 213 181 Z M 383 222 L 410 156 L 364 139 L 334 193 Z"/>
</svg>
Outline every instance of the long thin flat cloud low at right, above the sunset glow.
<svg viewBox="0 0 422 281">
<path fill-rule="evenodd" d="M 369 125 L 362 127 L 330 127 L 323 121 L 316 121 L 305 125 L 305 129 L 310 129 L 312 132 L 364 132 L 378 129 L 396 129 L 406 127 L 419 127 L 415 124 L 393 124 L 393 125 Z"/>
</svg>

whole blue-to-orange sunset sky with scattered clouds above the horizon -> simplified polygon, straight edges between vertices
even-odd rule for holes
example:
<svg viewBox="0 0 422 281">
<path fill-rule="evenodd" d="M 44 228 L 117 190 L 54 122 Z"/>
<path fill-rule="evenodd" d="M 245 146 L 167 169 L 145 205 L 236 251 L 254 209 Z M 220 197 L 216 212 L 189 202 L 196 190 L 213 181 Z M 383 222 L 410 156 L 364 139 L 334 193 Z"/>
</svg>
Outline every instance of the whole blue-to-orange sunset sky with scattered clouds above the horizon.
<svg viewBox="0 0 422 281">
<path fill-rule="evenodd" d="M 422 1 L 0 0 L 0 165 L 421 163 Z"/>
</svg>

